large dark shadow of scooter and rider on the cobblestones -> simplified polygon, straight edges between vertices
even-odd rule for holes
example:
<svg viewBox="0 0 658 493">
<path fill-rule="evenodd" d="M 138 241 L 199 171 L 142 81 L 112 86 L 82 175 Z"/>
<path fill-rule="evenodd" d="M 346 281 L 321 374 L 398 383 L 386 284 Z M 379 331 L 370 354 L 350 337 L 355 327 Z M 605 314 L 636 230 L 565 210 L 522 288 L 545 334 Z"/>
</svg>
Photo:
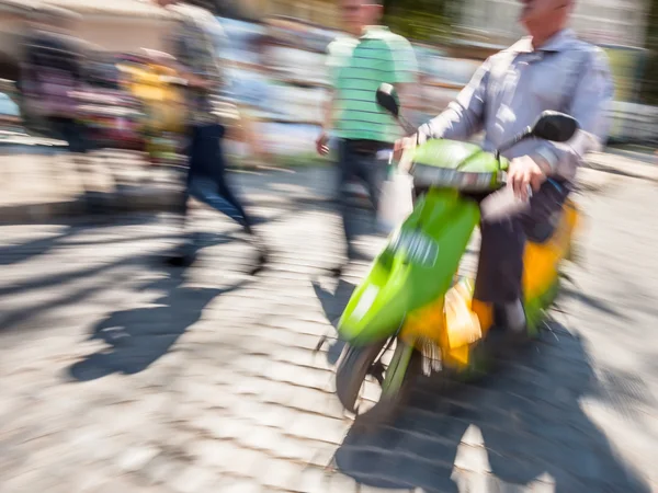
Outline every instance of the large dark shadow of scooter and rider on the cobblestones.
<svg viewBox="0 0 658 493">
<path fill-rule="evenodd" d="M 648 493 L 582 411 L 581 398 L 606 392 L 583 342 L 560 329 L 479 382 L 419 381 L 393 425 L 352 427 L 334 466 L 382 489 Z"/>
</svg>

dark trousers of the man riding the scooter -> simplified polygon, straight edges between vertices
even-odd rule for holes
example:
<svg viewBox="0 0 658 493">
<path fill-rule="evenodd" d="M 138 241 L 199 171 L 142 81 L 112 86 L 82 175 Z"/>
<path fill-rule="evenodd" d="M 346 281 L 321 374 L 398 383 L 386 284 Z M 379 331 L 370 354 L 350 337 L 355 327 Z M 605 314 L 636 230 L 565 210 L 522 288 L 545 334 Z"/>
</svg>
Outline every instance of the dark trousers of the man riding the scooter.
<svg viewBox="0 0 658 493">
<path fill-rule="evenodd" d="M 522 209 L 496 220 L 483 220 L 476 299 L 496 305 L 522 299 L 525 242 L 543 242 L 551 237 L 569 192 L 569 183 L 552 180 Z"/>
</svg>

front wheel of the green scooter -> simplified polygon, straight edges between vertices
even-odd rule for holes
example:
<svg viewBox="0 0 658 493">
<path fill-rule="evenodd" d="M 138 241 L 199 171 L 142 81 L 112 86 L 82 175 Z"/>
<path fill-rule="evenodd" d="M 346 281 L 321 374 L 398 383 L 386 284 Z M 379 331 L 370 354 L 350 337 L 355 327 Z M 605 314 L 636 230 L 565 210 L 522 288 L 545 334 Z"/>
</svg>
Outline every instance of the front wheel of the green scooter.
<svg viewBox="0 0 658 493">
<path fill-rule="evenodd" d="M 397 340 L 395 351 L 381 354 L 386 343 L 348 345 L 338 364 L 336 393 L 361 423 L 393 420 L 408 395 L 410 379 L 422 370 L 422 356 L 413 347 Z"/>
</svg>

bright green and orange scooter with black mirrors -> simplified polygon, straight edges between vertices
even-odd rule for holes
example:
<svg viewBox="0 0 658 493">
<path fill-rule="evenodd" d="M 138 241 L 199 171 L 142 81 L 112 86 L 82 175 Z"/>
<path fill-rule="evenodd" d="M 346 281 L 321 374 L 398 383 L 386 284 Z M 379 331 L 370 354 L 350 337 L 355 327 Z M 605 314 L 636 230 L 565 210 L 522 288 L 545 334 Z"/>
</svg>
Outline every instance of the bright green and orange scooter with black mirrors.
<svg viewBox="0 0 658 493">
<path fill-rule="evenodd" d="M 415 131 L 399 114 L 393 87 L 383 84 L 376 99 L 407 133 Z M 502 151 L 529 138 L 564 142 L 577 130 L 572 117 L 546 112 L 492 153 L 452 140 L 430 140 L 412 151 L 410 174 L 417 190 L 427 192 L 390 234 L 338 324 L 345 346 L 336 390 L 347 411 L 366 422 L 388 421 L 415 376 L 477 370 L 492 308 L 473 299 L 473 279 L 456 275 L 480 221 L 474 197 L 506 185 L 509 162 Z M 525 249 L 524 308 L 531 337 L 557 295 L 558 267 L 569 254 L 578 218 L 575 204 L 567 200 L 551 238 Z"/>
</svg>

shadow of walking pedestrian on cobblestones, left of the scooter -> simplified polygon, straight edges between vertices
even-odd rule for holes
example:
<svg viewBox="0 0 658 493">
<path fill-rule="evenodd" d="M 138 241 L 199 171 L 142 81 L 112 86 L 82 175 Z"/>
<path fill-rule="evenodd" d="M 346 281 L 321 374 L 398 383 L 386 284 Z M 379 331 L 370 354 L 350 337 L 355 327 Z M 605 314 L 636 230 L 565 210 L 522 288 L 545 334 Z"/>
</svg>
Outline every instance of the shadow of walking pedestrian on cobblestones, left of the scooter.
<svg viewBox="0 0 658 493">
<path fill-rule="evenodd" d="M 111 374 L 134 375 L 166 355 L 185 331 L 196 323 L 203 309 L 217 296 L 239 289 L 248 280 L 228 288 L 183 286 L 182 271 L 173 271 L 146 289 L 163 291 L 148 307 L 111 313 L 95 325 L 90 340 L 107 346 L 69 368 L 77 381 L 95 380 Z"/>
</svg>

